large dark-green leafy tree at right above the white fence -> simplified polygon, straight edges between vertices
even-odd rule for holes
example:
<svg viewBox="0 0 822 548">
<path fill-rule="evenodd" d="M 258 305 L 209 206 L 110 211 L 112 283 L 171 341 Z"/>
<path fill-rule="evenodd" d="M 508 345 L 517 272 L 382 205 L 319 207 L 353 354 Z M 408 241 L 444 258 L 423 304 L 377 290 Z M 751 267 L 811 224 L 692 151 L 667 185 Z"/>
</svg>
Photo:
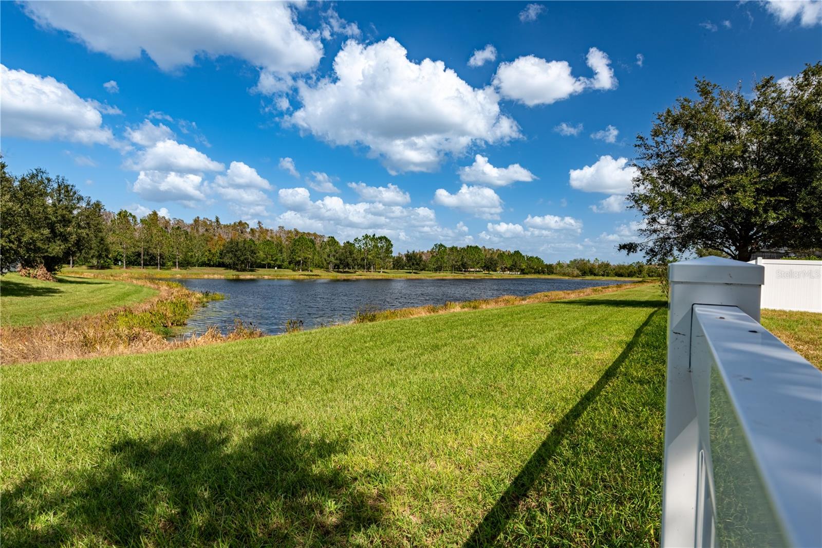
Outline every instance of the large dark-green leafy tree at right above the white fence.
<svg viewBox="0 0 822 548">
<path fill-rule="evenodd" d="M 640 241 L 664 261 L 696 248 L 741 261 L 760 249 L 822 248 L 822 63 L 759 81 L 751 95 L 696 83 L 640 135 L 630 207 Z"/>
</svg>

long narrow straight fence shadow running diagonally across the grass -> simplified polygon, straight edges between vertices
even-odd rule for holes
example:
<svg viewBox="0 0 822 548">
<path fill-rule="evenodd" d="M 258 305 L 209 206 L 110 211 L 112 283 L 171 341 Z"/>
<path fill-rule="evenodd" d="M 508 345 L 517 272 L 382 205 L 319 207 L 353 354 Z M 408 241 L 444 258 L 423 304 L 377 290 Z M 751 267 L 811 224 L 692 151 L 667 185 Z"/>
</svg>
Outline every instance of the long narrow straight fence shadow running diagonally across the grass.
<svg viewBox="0 0 822 548">
<path fill-rule="evenodd" d="M 649 301 L 641 302 L 645 303 L 646 306 L 649 305 Z M 483 521 L 479 522 L 463 546 L 490 546 L 494 544 L 497 537 L 503 529 L 505 529 L 507 522 L 516 513 L 520 501 L 528 496 L 534 483 L 542 475 L 563 439 L 574 432 L 576 421 L 582 416 L 596 397 L 598 397 L 599 392 L 602 392 L 611 379 L 617 374 L 620 366 L 626 361 L 631 351 L 634 350 L 637 341 L 640 340 L 645 327 L 648 327 L 653 315 L 658 312 L 658 310 L 654 310 L 649 314 L 648 318 L 645 318 L 645 321 L 634 332 L 634 337 L 631 338 L 621 354 L 617 356 L 617 359 L 608 366 L 608 369 L 605 370 L 593 387 L 589 388 L 589 391 L 585 392 L 584 396 L 576 402 L 575 406 L 556 422 L 551 429 L 551 433 L 547 435 L 543 443 L 533 452 L 529 461 L 525 463 L 520 473 L 511 481 L 493 508 L 485 514 Z"/>
</svg>

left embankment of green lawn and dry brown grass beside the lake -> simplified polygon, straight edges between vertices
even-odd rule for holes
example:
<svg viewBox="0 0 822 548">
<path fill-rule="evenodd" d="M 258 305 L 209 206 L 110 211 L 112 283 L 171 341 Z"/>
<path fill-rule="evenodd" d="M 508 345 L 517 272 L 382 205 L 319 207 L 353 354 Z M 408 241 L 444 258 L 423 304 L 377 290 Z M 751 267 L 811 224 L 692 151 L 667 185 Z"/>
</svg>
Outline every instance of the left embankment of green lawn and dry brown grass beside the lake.
<svg viewBox="0 0 822 548">
<path fill-rule="evenodd" d="M 222 295 L 204 295 L 156 280 L 131 283 L 58 276 L 57 282 L 7 274 L 0 280 L 0 364 L 129 354 L 259 337 L 242 324 L 186 341 L 166 337 L 194 310 Z"/>
</svg>

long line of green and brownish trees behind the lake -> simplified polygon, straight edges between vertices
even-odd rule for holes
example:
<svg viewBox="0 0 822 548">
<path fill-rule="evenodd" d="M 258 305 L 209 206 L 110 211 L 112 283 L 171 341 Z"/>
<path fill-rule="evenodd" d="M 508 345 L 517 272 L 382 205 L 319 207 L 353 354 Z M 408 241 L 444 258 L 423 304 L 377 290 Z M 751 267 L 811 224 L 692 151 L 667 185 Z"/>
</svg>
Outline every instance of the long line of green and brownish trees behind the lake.
<svg viewBox="0 0 822 548">
<path fill-rule="evenodd" d="M 394 254 L 385 235 L 365 234 L 340 243 L 334 236 L 270 229 L 261 223 L 224 223 L 197 216 L 191 222 L 151 211 L 108 211 L 63 177 L 36 169 L 15 176 L 0 160 L 0 267 L 58 272 L 64 264 L 95 268 L 226 267 L 308 271 L 509 272 L 562 276 L 655 276 L 642 263 L 612 265 L 575 259 L 546 263 L 519 250 L 436 244 Z"/>
</svg>

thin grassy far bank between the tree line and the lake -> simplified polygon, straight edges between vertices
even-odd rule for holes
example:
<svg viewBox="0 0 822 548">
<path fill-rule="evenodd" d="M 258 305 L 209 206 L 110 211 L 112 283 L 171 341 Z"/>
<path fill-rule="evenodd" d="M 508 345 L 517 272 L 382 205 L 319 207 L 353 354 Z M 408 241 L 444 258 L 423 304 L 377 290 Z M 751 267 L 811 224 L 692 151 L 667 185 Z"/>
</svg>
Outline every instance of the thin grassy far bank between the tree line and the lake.
<svg viewBox="0 0 822 548">
<path fill-rule="evenodd" d="M 510 278 L 560 278 L 567 279 L 568 276 L 556 276 L 553 274 L 502 274 L 500 272 L 411 272 L 409 270 L 386 270 L 385 272 L 364 272 L 345 271 L 330 272 L 327 270 L 315 269 L 312 272 L 299 272 L 288 268 L 257 268 L 252 272 L 240 272 L 222 267 L 192 267 L 182 270 L 156 268 L 109 268 L 106 270 L 96 270 L 93 268 L 76 267 L 64 268 L 62 272 L 78 275 L 106 276 L 111 278 L 132 278 L 132 279 L 165 279 L 165 278 L 266 278 L 272 280 L 310 280 L 316 278 L 330 280 L 382 280 L 391 278 L 433 278 L 433 279 L 458 279 L 458 280 L 485 280 L 485 279 L 510 279 Z M 643 278 L 617 278 L 614 276 L 579 276 L 575 280 L 625 280 L 635 281 Z"/>
</svg>

